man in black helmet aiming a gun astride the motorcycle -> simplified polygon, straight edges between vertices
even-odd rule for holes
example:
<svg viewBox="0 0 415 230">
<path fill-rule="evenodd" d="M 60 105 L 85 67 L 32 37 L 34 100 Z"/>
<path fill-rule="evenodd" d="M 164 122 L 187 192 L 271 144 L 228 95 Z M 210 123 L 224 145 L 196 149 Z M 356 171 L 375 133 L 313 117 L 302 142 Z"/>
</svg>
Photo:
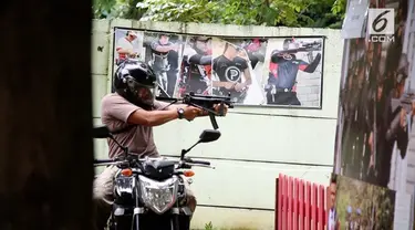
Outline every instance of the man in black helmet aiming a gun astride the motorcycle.
<svg viewBox="0 0 415 230">
<path fill-rule="evenodd" d="M 170 105 L 155 100 L 157 77 L 153 70 L 141 61 L 127 60 L 114 74 L 115 93 L 102 98 L 101 119 L 114 134 L 115 139 L 128 147 L 137 157 L 159 157 L 153 138 L 153 126 L 159 126 L 174 119 L 193 121 L 208 113 L 188 105 Z M 215 106 L 219 111 L 219 105 Z M 227 107 L 224 109 L 227 113 Z M 123 154 L 116 143 L 108 139 L 108 157 L 118 158 Z M 113 203 L 113 178 L 116 166 L 106 167 L 95 179 L 93 194 L 96 202 L 96 229 L 104 229 Z M 185 185 L 187 180 L 185 179 Z M 187 206 L 191 212 L 196 209 L 196 198 L 186 185 Z"/>
</svg>

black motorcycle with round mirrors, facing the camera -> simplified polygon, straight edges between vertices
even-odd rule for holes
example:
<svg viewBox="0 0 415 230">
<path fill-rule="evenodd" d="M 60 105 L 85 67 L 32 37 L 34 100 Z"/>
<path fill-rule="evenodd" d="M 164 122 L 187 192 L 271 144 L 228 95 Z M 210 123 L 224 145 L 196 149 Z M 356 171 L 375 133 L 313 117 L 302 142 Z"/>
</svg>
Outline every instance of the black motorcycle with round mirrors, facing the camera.
<svg viewBox="0 0 415 230">
<path fill-rule="evenodd" d="M 186 207 L 184 177 L 191 177 L 193 166 L 209 167 L 209 161 L 194 160 L 185 155 L 200 143 L 215 142 L 220 132 L 205 129 L 199 140 L 183 149 L 179 160 L 137 158 L 117 143 L 106 126 L 96 127 L 94 138 L 112 138 L 123 150 L 118 159 L 95 159 L 94 166 L 115 165 L 114 203 L 110 230 L 189 230 L 191 211 Z"/>
</svg>

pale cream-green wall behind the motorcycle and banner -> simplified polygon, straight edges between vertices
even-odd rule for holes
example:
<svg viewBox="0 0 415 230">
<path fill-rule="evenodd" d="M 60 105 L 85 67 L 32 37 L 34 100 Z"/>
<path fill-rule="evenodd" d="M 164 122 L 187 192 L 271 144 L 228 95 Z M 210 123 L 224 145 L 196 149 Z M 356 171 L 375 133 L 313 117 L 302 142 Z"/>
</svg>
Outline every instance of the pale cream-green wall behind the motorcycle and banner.
<svg viewBox="0 0 415 230">
<path fill-rule="evenodd" d="M 196 23 L 95 20 L 92 33 L 94 122 L 101 98 L 110 92 L 112 28 L 127 27 L 177 33 L 235 36 L 325 35 L 322 109 L 236 107 L 218 118 L 221 138 L 196 147 L 189 156 L 210 160 L 216 169 L 195 168 L 191 185 L 199 207 L 193 226 L 273 229 L 274 181 L 280 172 L 328 185 L 333 164 L 343 41 L 339 30 L 237 27 Z M 178 155 L 210 128 L 208 118 L 178 121 L 155 128 L 162 154 Z M 106 143 L 95 140 L 95 155 Z"/>
</svg>

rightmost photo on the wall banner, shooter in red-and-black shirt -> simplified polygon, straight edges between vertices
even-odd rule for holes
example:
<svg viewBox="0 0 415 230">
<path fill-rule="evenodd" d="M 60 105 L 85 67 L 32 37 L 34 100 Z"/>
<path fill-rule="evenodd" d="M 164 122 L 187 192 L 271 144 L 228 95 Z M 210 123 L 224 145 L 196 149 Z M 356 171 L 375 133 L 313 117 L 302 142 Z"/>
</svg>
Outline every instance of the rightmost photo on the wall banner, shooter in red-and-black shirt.
<svg viewBox="0 0 415 230">
<path fill-rule="evenodd" d="M 269 39 L 261 85 L 266 104 L 321 107 L 324 38 Z"/>
</svg>

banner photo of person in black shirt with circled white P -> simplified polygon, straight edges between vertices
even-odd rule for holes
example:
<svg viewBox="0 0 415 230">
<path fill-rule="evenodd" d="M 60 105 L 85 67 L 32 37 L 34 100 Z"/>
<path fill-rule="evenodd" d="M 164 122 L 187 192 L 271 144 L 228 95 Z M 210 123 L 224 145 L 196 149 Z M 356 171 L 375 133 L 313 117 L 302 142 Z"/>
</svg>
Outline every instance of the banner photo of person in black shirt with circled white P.
<svg viewBox="0 0 415 230">
<path fill-rule="evenodd" d="M 261 105 L 264 94 L 260 86 L 267 40 L 212 39 L 212 94 L 230 95 L 239 105 Z"/>
</svg>

